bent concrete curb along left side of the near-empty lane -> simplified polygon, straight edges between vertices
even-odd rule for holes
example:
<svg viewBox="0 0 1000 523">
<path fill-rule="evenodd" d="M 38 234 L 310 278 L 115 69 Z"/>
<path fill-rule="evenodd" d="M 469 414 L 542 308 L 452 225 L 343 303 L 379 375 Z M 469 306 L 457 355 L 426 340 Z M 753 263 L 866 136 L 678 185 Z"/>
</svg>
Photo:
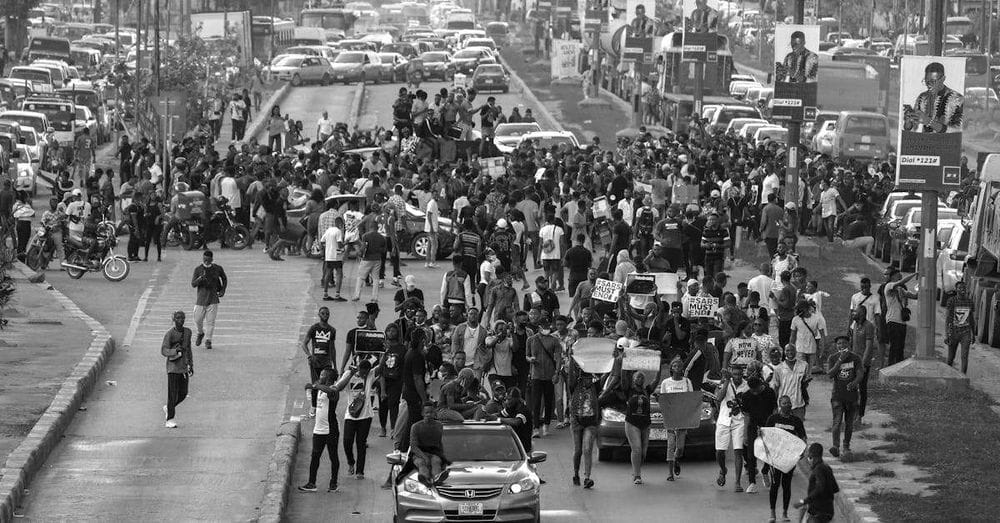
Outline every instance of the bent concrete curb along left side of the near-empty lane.
<svg viewBox="0 0 1000 523">
<path fill-rule="evenodd" d="M 14 270 L 25 280 L 34 276 L 34 272 L 20 262 L 14 264 Z M 7 523 L 17 517 L 15 510 L 21 505 L 31 479 L 59 444 L 63 433 L 73 421 L 73 416 L 76 415 L 87 394 L 93 390 L 94 384 L 115 351 L 115 340 L 104 326 L 81 311 L 64 294 L 50 288 L 48 283 L 41 282 L 35 285 L 55 298 L 70 315 L 86 323 L 94 338 L 83 358 L 73 368 L 73 372 L 63 381 L 52 403 L 35 422 L 31 432 L 7 457 L 7 463 L 2 471 L 3 478 L 0 479 L 0 493 L 3 495 L 3 500 L 0 500 L 0 523 Z"/>
</svg>

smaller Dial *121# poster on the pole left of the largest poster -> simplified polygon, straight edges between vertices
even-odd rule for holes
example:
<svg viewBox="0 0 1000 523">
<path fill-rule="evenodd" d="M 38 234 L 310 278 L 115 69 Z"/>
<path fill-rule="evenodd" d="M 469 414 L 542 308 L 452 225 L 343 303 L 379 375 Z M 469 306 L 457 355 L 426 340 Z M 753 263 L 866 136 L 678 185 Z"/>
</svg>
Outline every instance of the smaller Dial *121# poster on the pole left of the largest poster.
<svg viewBox="0 0 1000 523">
<path fill-rule="evenodd" d="M 778 24 L 774 28 L 775 120 L 816 119 L 816 82 L 819 78 L 818 25 Z"/>
</svg>

